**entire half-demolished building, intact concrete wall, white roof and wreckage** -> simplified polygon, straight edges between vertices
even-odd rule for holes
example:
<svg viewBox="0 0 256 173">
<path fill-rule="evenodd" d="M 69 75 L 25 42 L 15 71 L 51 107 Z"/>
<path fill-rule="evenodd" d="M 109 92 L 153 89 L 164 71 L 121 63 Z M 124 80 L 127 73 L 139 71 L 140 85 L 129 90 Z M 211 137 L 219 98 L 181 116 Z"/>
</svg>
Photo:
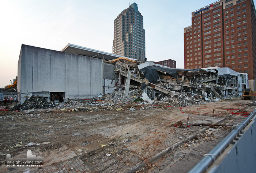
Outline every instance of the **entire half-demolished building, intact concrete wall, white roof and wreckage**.
<svg viewBox="0 0 256 173">
<path fill-rule="evenodd" d="M 241 91 L 241 77 L 230 68 L 169 68 L 142 60 L 68 44 L 61 51 L 22 45 L 18 62 L 18 101 L 34 96 L 62 102 L 97 94 L 140 89 L 150 99 L 175 92 L 204 98 Z M 143 93 L 142 92 L 142 93 Z"/>
</svg>

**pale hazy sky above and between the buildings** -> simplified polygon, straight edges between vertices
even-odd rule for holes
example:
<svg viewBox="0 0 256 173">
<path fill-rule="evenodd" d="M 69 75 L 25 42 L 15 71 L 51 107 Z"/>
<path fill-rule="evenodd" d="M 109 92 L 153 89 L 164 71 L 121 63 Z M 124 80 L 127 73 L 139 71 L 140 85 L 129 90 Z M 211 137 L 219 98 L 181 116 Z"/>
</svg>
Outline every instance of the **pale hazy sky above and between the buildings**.
<svg viewBox="0 0 256 173">
<path fill-rule="evenodd" d="M 112 53 L 114 19 L 134 1 L 0 0 L 0 87 L 18 75 L 21 44 L 60 51 L 68 43 Z M 137 0 L 144 16 L 147 60 L 184 68 L 183 29 L 191 12 L 214 0 Z"/>
</svg>

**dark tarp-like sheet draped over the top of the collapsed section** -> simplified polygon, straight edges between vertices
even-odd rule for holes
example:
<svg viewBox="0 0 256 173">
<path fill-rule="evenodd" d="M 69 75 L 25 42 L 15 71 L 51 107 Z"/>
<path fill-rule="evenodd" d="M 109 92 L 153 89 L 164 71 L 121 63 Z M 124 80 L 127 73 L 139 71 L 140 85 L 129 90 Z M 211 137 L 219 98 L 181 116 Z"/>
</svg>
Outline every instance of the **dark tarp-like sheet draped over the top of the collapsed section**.
<svg viewBox="0 0 256 173">
<path fill-rule="evenodd" d="M 201 68 L 179 69 L 179 68 L 165 68 L 165 67 L 155 67 L 155 66 L 147 66 L 140 69 L 140 71 L 143 72 L 145 78 L 148 79 L 148 82 L 151 82 L 151 83 L 157 82 L 157 79 L 159 79 L 157 70 L 166 72 L 167 74 L 173 76 L 176 79 L 178 79 L 177 71 L 192 71 L 192 72 L 204 71 Z"/>
</svg>

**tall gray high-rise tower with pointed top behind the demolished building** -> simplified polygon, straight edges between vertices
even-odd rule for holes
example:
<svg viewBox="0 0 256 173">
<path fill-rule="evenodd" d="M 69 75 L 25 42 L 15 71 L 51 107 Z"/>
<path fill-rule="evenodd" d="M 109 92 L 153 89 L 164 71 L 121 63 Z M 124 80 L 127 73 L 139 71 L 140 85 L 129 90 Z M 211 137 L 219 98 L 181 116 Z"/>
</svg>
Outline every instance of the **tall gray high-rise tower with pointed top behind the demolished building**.
<svg viewBox="0 0 256 173">
<path fill-rule="evenodd" d="M 143 16 L 133 3 L 114 20 L 113 54 L 146 60 Z"/>
</svg>

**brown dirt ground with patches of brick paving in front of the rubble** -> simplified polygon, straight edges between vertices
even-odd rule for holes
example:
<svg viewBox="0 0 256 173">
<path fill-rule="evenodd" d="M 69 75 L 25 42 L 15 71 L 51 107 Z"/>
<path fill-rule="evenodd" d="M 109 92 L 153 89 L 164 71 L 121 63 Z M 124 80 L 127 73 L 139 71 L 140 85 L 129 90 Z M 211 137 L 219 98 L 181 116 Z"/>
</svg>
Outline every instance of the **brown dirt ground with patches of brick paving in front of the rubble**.
<svg viewBox="0 0 256 173">
<path fill-rule="evenodd" d="M 182 124 L 187 123 L 188 115 L 188 124 L 211 124 L 246 105 L 243 111 L 222 122 L 222 125 L 235 125 L 255 109 L 254 102 L 222 100 L 182 109 L 127 105 L 134 107 L 134 111 L 0 112 L 0 172 L 125 172 L 206 127 Z M 231 126 L 212 128 L 218 131 L 200 133 L 138 172 L 189 171 L 231 130 Z M 30 142 L 34 145 L 26 146 Z M 7 167 L 4 164 L 6 154 L 26 157 L 28 149 L 43 157 L 42 167 Z"/>
</svg>

